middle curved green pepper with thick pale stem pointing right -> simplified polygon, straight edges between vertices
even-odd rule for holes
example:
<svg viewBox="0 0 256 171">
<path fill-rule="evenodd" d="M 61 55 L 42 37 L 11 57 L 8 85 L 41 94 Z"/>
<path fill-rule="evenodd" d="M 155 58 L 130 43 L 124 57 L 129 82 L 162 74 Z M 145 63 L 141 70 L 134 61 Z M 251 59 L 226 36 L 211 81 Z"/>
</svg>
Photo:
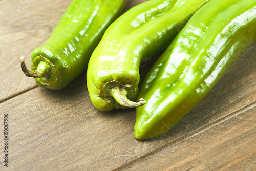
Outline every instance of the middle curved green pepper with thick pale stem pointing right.
<svg viewBox="0 0 256 171">
<path fill-rule="evenodd" d="M 208 0 L 151 0 L 125 12 L 104 33 L 87 70 L 93 105 L 102 111 L 143 105 L 139 66 L 167 48 L 187 20 Z"/>
</svg>

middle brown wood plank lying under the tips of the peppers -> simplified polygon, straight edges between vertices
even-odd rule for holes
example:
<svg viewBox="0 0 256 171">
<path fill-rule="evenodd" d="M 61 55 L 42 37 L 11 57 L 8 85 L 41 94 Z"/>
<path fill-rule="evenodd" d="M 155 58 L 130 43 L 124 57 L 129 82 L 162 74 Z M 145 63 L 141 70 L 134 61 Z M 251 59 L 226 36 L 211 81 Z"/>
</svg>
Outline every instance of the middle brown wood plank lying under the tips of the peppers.
<svg viewBox="0 0 256 171">
<path fill-rule="evenodd" d="M 255 103 L 255 46 L 241 56 L 214 89 L 172 130 L 151 140 L 139 141 L 133 137 L 135 110 L 96 110 L 89 99 L 85 75 L 60 91 L 38 87 L 11 98 L 0 104 L 1 114 L 9 114 L 10 168 L 111 170 L 181 143 L 185 140 L 182 137 Z M 222 125 L 236 124 L 230 120 Z M 222 139 L 214 139 L 223 134 L 215 132 L 208 138 L 213 144 L 224 144 Z M 2 129 L 0 135 L 3 135 Z M 250 136 L 255 138 L 255 134 Z M 248 140 L 248 144 L 251 143 Z M 197 146 L 193 147 L 197 150 Z M 186 148 L 182 150 L 188 153 Z"/>
</svg>

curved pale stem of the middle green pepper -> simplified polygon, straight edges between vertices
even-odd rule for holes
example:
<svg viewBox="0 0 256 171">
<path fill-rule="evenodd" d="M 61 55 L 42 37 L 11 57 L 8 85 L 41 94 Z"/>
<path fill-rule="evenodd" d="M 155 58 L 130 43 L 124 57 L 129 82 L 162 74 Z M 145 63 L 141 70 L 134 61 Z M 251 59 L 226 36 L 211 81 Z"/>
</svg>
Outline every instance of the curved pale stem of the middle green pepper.
<svg viewBox="0 0 256 171">
<path fill-rule="evenodd" d="M 124 87 L 122 88 L 114 87 L 111 90 L 110 95 L 114 97 L 117 103 L 127 108 L 136 108 L 136 107 L 142 106 L 146 102 L 143 98 L 141 98 L 139 102 L 134 102 L 129 100 L 126 97 L 127 91 Z"/>
</svg>

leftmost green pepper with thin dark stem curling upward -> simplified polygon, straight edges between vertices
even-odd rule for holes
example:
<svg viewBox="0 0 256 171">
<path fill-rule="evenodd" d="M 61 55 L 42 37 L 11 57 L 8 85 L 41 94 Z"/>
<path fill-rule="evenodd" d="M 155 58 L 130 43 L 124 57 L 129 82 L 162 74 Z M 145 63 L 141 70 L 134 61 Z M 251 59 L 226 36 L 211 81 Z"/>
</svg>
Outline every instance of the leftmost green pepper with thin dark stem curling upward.
<svg viewBox="0 0 256 171">
<path fill-rule="evenodd" d="M 81 74 L 106 28 L 127 0 L 73 0 L 50 38 L 31 54 L 31 70 L 23 72 L 44 88 L 59 90 Z"/>
</svg>

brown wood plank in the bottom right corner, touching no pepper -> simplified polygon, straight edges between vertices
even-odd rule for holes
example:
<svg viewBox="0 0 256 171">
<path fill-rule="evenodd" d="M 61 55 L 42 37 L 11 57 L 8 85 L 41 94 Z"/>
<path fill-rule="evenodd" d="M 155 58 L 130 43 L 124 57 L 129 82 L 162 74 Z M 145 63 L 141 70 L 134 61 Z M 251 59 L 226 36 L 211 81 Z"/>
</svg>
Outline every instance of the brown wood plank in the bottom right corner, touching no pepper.
<svg viewBox="0 0 256 171">
<path fill-rule="evenodd" d="M 125 170 L 255 170 L 256 103 Z"/>
</svg>

